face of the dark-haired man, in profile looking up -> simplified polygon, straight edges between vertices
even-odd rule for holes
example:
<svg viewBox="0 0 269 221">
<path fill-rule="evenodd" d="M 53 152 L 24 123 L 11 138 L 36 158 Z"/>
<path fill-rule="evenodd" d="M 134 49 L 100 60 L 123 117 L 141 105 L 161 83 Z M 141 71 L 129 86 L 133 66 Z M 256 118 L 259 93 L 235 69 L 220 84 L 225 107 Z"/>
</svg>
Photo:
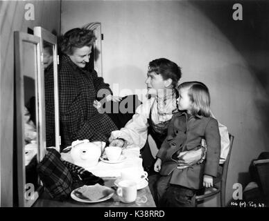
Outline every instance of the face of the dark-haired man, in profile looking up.
<svg viewBox="0 0 269 221">
<path fill-rule="evenodd" d="M 157 75 L 155 72 L 148 73 L 145 83 L 150 95 L 157 95 L 158 90 L 163 91 L 166 88 L 166 81 L 162 78 L 162 75 Z"/>
</svg>

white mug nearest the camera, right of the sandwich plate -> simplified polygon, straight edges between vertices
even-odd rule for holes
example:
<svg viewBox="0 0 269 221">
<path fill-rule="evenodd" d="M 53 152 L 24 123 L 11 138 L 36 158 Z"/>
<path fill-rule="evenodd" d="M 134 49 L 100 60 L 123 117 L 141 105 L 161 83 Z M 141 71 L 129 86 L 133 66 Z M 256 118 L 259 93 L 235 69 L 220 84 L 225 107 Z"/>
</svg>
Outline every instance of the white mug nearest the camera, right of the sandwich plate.
<svg viewBox="0 0 269 221">
<path fill-rule="evenodd" d="M 137 200 L 137 183 L 131 180 L 121 180 L 116 189 L 121 202 L 130 203 Z"/>
</svg>

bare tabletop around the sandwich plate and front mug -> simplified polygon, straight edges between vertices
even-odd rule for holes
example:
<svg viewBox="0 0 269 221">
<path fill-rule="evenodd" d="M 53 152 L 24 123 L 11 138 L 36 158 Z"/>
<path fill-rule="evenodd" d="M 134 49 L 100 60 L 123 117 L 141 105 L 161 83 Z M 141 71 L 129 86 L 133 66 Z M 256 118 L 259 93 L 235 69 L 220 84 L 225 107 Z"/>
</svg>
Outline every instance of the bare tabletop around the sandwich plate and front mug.
<svg viewBox="0 0 269 221">
<path fill-rule="evenodd" d="M 114 186 L 115 179 L 105 178 L 105 186 Z M 71 197 L 64 202 L 52 200 L 49 195 L 44 192 L 40 198 L 33 204 L 33 207 L 155 207 L 153 196 L 150 193 L 150 189 L 146 186 L 144 189 L 137 191 L 137 200 L 132 203 L 123 203 L 119 200 L 119 197 L 114 193 L 110 200 L 96 203 L 84 203 L 77 202 Z"/>
</svg>

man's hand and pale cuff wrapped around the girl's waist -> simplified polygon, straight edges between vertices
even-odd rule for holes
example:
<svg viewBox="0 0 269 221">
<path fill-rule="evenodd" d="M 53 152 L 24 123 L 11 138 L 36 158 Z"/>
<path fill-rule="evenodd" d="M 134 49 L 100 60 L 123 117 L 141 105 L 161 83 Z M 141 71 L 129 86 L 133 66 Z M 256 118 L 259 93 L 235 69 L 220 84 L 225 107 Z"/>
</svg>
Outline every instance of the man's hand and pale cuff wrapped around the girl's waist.
<svg viewBox="0 0 269 221">
<path fill-rule="evenodd" d="M 205 148 L 199 148 L 196 151 L 184 151 L 177 156 L 178 166 L 191 166 L 201 160 L 205 153 Z"/>
</svg>

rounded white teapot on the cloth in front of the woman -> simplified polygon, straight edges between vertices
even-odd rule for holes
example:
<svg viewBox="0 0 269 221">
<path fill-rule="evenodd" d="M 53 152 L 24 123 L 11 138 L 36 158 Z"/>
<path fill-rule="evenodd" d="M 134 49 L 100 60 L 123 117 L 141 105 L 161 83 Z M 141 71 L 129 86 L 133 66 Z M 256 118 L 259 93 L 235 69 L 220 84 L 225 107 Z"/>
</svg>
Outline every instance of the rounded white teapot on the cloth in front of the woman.
<svg viewBox="0 0 269 221">
<path fill-rule="evenodd" d="M 89 142 L 89 140 L 76 140 L 71 144 L 70 155 L 73 163 L 89 168 L 96 166 L 105 148 L 105 142 Z"/>
</svg>

